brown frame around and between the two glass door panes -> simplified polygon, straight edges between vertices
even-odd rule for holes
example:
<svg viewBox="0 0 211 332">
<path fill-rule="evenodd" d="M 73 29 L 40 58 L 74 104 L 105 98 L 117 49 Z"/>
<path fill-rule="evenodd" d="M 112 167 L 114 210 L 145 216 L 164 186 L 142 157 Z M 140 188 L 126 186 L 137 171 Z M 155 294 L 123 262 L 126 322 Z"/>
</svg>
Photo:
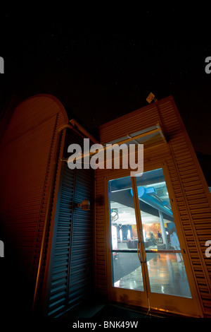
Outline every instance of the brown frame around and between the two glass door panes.
<svg viewBox="0 0 211 332">
<path fill-rule="evenodd" d="M 179 223 L 179 211 L 177 211 L 176 198 L 174 196 L 174 190 L 170 181 L 170 174 L 167 170 L 166 163 L 162 165 L 156 165 L 151 167 L 150 170 L 158 170 L 162 168 L 167 191 L 170 196 L 170 202 L 172 206 L 172 213 L 174 215 L 174 223 L 177 228 L 177 235 L 179 237 L 179 243 L 181 247 L 181 255 L 184 259 L 184 266 L 186 269 L 186 275 L 188 278 L 189 287 L 191 290 L 192 298 L 179 297 L 174 295 L 163 295 L 160 293 L 151 292 L 150 283 L 148 278 L 148 268 L 145 262 L 145 248 L 143 246 L 142 237 L 142 223 L 141 223 L 141 212 L 138 206 L 138 194 L 136 186 L 136 178 L 131 177 L 132 187 L 134 190 L 134 209 L 136 213 L 136 225 L 138 230 L 138 237 L 140 241 L 140 251 L 143 258 L 142 263 L 140 262 L 142 276 L 143 276 L 143 287 L 144 292 L 138 290 L 127 290 L 124 288 L 113 287 L 112 285 L 112 262 L 111 262 L 111 236 L 110 236 L 110 205 L 108 197 L 108 182 L 112 179 L 120 179 L 122 177 L 130 176 L 129 172 L 112 172 L 107 177 L 104 177 L 104 189 L 105 189 L 105 207 L 106 207 L 106 263 L 107 263 L 107 289 L 108 289 L 108 300 L 115 302 L 122 302 L 125 304 L 134 305 L 137 307 L 143 307 L 144 309 L 153 309 L 155 311 L 169 312 L 172 314 L 180 314 L 183 316 L 200 316 L 203 317 L 203 311 L 200 305 L 200 298 L 196 283 L 193 277 L 191 263 L 188 257 L 188 250 L 186 248 L 186 241 Z M 146 172 L 150 171 L 146 170 Z M 142 296 L 141 296 L 142 295 Z M 182 299 L 182 301 L 181 301 Z"/>
</svg>

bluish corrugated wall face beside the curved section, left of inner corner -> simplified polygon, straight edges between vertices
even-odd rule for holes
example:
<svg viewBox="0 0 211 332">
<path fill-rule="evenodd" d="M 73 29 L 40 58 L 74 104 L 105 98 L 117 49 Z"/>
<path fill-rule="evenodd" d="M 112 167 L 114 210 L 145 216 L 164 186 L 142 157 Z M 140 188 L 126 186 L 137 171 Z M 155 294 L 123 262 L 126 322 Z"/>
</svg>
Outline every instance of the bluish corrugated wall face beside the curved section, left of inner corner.
<svg viewBox="0 0 211 332">
<path fill-rule="evenodd" d="M 53 256 L 49 275 L 51 275 L 51 290 L 49 295 L 49 316 L 58 315 L 66 307 L 68 273 L 70 264 L 70 247 L 72 239 L 72 204 L 74 201 L 75 172 L 63 165 L 60 177 L 61 188 L 58 193 L 58 212 L 54 227 L 51 255 Z"/>
</svg>

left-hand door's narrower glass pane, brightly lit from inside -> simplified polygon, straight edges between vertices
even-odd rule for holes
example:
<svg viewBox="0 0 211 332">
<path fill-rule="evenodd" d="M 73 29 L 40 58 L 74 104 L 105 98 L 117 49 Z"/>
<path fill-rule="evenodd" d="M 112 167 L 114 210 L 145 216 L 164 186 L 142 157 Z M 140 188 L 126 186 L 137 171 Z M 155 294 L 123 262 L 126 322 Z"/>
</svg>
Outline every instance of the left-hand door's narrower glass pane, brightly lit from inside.
<svg viewBox="0 0 211 332">
<path fill-rule="evenodd" d="M 108 188 L 113 287 L 143 291 L 131 177 L 111 180 Z"/>
</svg>

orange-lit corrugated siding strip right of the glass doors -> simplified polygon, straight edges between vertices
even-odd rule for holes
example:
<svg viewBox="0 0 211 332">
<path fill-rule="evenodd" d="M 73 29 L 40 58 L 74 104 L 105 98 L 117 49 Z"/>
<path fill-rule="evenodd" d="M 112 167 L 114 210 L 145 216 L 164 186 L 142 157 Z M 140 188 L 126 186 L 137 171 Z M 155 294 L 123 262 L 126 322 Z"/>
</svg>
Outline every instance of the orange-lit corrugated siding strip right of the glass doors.
<svg viewBox="0 0 211 332">
<path fill-rule="evenodd" d="M 173 100 L 160 102 L 158 112 L 170 139 L 172 160 L 167 167 L 177 201 L 180 222 L 193 267 L 193 275 L 203 304 L 211 314 L 211 261 L 205 256 L 205 242 L 211 239 L 211 204 L 207 183 L 196 153 Z"/>
</svg>

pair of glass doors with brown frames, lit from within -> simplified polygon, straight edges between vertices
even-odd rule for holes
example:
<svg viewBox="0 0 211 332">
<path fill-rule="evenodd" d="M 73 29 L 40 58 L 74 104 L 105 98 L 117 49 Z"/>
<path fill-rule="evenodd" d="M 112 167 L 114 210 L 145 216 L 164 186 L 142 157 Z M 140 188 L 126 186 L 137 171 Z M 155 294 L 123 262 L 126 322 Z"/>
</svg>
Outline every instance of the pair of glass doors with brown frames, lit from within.
<svg viewBox="0 0 211 332">
<path fill-rule="evenodd" d="M 108 202 L 110 300 L 196 316 L 162 169 L 109 180 Z"/>
</svg>

